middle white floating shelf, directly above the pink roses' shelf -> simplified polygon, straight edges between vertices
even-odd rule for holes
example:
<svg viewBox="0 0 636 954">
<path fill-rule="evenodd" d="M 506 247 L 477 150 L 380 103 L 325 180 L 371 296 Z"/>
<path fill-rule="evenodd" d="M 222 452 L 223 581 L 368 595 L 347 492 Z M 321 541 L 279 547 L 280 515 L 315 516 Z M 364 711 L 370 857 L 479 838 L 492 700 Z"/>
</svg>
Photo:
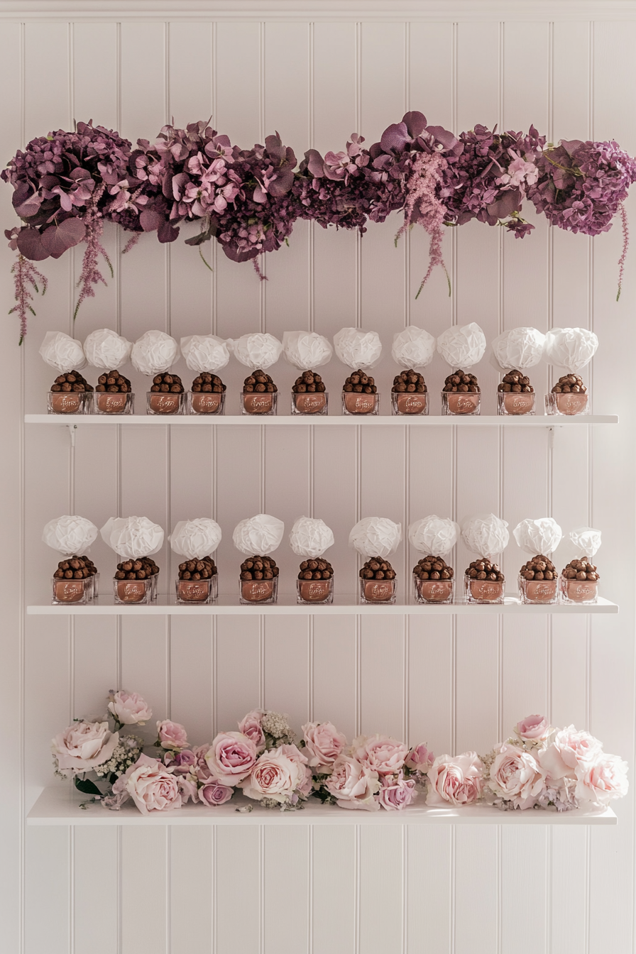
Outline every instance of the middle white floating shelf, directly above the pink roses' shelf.
<svg viewBox="0 0 636 954">
<path fill-rule="evenodd" d="M 215 603 L 203 605 L 185 606 L 177 604 L 174 596 L 157 596 L 154 603 L 147 606 L 124 606 L 115 604 L 112 596 L 100 596 L 85 606 L 51 606 L 51 603 L 31 604 L 27 607 L 27 612 L 31 616 L 50 616 L 55 614 L 69 614 L 72 616 L 339 616 L 339 615 L 376 615 L 376 616 L 426 616 L 443 614 L 445 616 L 458 614 L 464 615 L 472 613 L 473 615 L 501 614 L 507 615 L 511 612 L 530 612 L 535 614 L 545 613 L 563 613 L 571 615 L 572 613 L 605 613 L 618 612 L 618 605 L 609 600 L 599 597 L 598 603 L 590 606 L 577 606 L 576 604 L 557 604 L 555 606 L 539 606 L 523 604 L 518 596 L 509 595 L 505 597 L 505 602 L 499 605 L 490 605 L 487 603 L 476 606 L 468 603 L 452 603 L 448 605 L 437 606 L 433 603 L 415 604 L 415 603 L 394 603 L 382 604 L 376 603 L 359 604 L 357 597 L 352 594 L 338 595 L 334 603 L 330 606 L 299 606 L 296 602 L 296 596 L 279 595 L 278 602 L 270 606 L 260 606 L 257 603 L 252 606 L 242 606 L 238 602 L 236 595 L 221 594 Z"/>
</svg>

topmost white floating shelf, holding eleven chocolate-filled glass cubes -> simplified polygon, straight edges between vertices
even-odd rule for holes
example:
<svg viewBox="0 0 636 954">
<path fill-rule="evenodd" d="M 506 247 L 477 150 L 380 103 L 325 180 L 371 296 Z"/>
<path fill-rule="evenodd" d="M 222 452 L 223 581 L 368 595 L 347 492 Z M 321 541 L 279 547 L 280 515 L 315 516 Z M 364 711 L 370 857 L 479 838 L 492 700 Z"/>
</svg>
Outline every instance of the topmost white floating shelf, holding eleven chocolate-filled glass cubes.
<svg viewBox="0 0 636 954">
<path fill-rule="evenodd" d="M 203 427 L 203 426 L 225 426 L 225 427 L 254 427 L 264 425 L 266 427 L 302 427 L 306 425 L 315 425 L 317 427 L 355 427 L 363 425 L 365 427 L 401 427 L 403 425 L 413 427 L 436 427 L 449 425 L 458 425 L 464 427 L 480 427 L 502 425 L 504 427 L 574 427 L 590 424 L 618 424 L 618 415 L 616 414 L 589 414 L 579 415 L 577 417 L 547 416 L 538 414 L 536 416 L 524 417 L 504 417 L 496 415 L 483 415 L 477 417 L 442 417 L 441 415 L 430 415 L 421 417 L 413 415 L 412 417 L 391 417 L 388 414 L 378 415 L 339 415 L 334 414 L 327 417 L 313 417 L 311 415 L 298 414 L 280 414 L 273 417 L 259 417 L 257 415 L 221 415 L 220 417 L 206 417 L 203 415 L 178 415 L 159 417 L 154 414 L 70 414 L 65 417 L 62 414 L 25 414 L 26 424 L 45 424 L 53 426 L 86 426 L 86 425 L 123 425 L 132 427 L 143 425 L 158 427 L 171 425 L 173 427 Z"/>
</svg>

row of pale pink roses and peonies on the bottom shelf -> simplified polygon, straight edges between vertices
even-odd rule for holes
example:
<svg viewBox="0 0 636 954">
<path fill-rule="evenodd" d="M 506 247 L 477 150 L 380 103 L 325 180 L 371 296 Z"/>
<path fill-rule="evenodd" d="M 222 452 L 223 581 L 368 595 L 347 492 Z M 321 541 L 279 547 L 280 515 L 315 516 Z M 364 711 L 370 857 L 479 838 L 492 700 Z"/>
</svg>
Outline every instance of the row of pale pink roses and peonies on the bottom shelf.
<svg viewBox="0 0 636 954">
<path fill-rule="evenodd" d="M 262 709 L 244 716 L 237 732 L 219 732 L 199 746 L 184 726 L 163 719 L 148 754 L 124 729 L 152 716 L 140 695 L 112 691 L 103 717 L 76 719 L 53 738 L 55 774 L 73 778 L 89 801 L 116 810 L 132 799 L 143 815 L 190 801 L 214 807 L 238 793 L 238 812 L 251 811 L 252 801 L 297 810 L 308 798 L 378 812 L 402 811 L 419 796 L 434 807 L 566 811 L 607 805 L 627 792 L 626 762 L 606 755 L 588 733 L 554 729 L 544 716 L 523 719 L 486 756 L 437 758 L 423 743 L 409 748 L 391 736 L 358 736 L 349 744 L 331 722 L 307 722 L 297 739 L 287 716 Z"/>
</svg>

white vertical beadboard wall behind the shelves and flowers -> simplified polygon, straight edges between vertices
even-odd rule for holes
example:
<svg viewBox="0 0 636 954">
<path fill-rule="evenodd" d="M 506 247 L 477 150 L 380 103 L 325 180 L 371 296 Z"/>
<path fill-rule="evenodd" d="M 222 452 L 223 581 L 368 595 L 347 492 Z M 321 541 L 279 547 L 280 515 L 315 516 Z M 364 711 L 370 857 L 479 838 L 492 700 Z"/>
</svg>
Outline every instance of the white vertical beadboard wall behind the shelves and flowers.
<svg viewBox="0 0 636 954">
<path fill-rule="evenodd" d="M 376 6 L 368 16 L 360 8 L 331 17 L 283 15 L 279 3 L 271 15 L 267 4 L 259 12 L 243 4 L 235 18 L 213 5 L 182 16 L 136 15 L 134 5 L 115 16 L 89 3 L 67 16 L 53 11 L 59 5 L 42 6 L 50 15 L 26 3 L 0 10 L 3 162 L 73 118 L 134 140 L 152 138 L 171 117 L 183 125 L 212 114 L 233 142 L 249 146 L 277 129 L 302 156 L 312 146 L 338 151 L 356 130 L 371 143 L 410 109 L 455 131 L 534 122 L 552 139 L 616 138 L 636 152 L 633 5 L 619 22 L 615 4 L 613 22 L 604 19 L 602 3 L 580 19 L 572 11 L 554 22 L 547 15 L 523 22 L 517 4 L 509 18 L 478 3 L 474 17 L 469 10 L 456 19 L 427 16 L 423 3 L 421 15 L 403 18 L 388 2 L 380 13 Z M 0 202 L 10 227 L 8 187 Z M 634 222 L 633 198 L 628 207 Z M 115 277 L 82 307 L 74 328 L 81 250 L 42 264 L 50 290 L 35 302 L 27 342 L 18 350 L 14 317 L 0 328 L 7 762 L 0 948 L 7 954 L 633 952 L 631 797 L 617 807 L 618 827 L 597 831 L 24 828 L 26 811 L 52 780 L 51 736 L 73 716 L 101 711 L 113 686 L 139 691 L 156 717 L 185 723 L 197 742 L 261 705 L 288 713 L 297 727 L 331 719 L 350 737 L 380 731 L 425 739 L 436 753 L 484 751 L 520 717 L 544 712 L 589 729 L 634 764 L 636 253 L 617 304 L 618 226 L 593 241 L 550 232 L 543 218 L 536 226 L 523 241 L 478 223 L 448 230 L 452 297 L 438 272 L 419 301 L 427 241 L 414 232 L 396 250 L 397 217 L 371 224 L 361 240 L 300 222 L 290 247 L 267 258 L 269 280 L 260 284 L 249 264 L 215 250 L 211 274 L 181 240 L 161 246 L 145 237 L 122 258 L 121 236 L 107 229 Z M 5 247 L 0 259 L 6 311 L 12 258 Z M 376 376 L 386 412 L 394 332 L 415 323 L 440 334 L 467 321 L 478 321 L 488 340 L 519 324 L 593 328 L 601 342 L 588 375 L 594 409 L 620 413 L 621 425 L 566 429 L 553 449 L 547 432 L 534 428 L 113 425 L 82 428 L 74 455 L 63 428 L 22 425 L 25 411 L 45 406 L 51 369 L 37 349 L 50 329 L 84 339 L 106 325 L 134 340 L 149 328 L 177 339 L 295 328 L 332 336 L 357 323 L 385 343 Z M 184 363 L 176 371 L 190 375 Z M 485 412 L 494 413 L 497 373 L 486 360 L 478 372 Z M 278 363 L 274 373 L 286 410 L 294 371 Z M 344 375 L 336 360 L 324 372 L 332 412 Z M 426 375 L 434 402 L 443 375 L 436 358 Z M 228 411 L 236 413 L 241 370 L 233 363 L 223 376 Z M 542 395 L 544 366 L 532 380 Z M 141 378 L 133 384 L 141 410 Z M 211 514 L 224 532 L 218 565 L 221 588 L 230 590 L 240 559 L 232 529 L 261 509 L 288 527 L 307 513 L 337 529 L 341 591 L 356 582 L 346 536 L 364 515 L 404 527 L 426 513 L 461 520 L 479 510 L 500 513 L 511 527 L 548 513 L 566 530 L 590 523 L 604 533 L 603 592 L 621 612 L 315 622 L 24 616 L 55 565 L 40 539 L 53 516 L 81 513 L 101 526 L 113 514 L 143 513 L 170 529 Z M 94 554 L 108 580 L 113 554 L 101 541 Z M 569 555 L 562 547 L 558 561 Z M 396 555 L 402 588 L 415 559 L 406 543 Z M 468 559 L 458 548 L 458 570 Z M 523 559 L 511 543 L 510 581 Z M 167 548 L 157 561 L 164 586 L 172 586 Z M 295 586 L 296 564 L 283 545 L 282 591 Z"/>
</svg>

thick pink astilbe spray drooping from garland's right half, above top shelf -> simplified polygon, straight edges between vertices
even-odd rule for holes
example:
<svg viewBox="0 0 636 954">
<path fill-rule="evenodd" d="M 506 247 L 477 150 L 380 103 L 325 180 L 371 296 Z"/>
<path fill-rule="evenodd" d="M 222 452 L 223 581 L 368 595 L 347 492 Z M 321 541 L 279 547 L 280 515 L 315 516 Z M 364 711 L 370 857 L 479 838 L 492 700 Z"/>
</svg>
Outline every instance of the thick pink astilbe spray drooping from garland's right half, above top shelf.
<svg viewBox="0 0 636 954">
<path fill-rule="evenodd" d="M 450 279 L 441 254 L 443 239 L 443 221 L 445 208 L 436 196 L 436 189 L 443 182 L 443 171 L 447 162 L 440 153 L 418 153 L 413 162 L 413 172 L 406 182 L 406 202 L 404 204 L 404 221 L 396 236 L 396 245 L 400 235 L 418 222 L 431 237 L 428 247 L 428 270 L 421 280 L 416 299 L 420 297 L 421 289 L 429 280 L 436 265 L 441 265 L 448 280 L 448 294 L 450 295 Z"/>
</svg>

